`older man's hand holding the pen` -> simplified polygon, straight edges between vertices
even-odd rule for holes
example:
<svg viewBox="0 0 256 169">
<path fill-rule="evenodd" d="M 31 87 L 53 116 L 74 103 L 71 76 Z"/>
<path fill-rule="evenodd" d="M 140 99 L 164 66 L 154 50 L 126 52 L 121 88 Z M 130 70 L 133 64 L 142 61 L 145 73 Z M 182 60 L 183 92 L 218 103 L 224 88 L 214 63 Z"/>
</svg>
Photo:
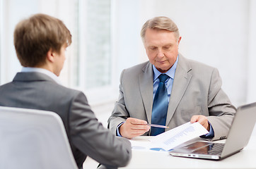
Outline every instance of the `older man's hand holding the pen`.
<svg viewBox="0 0 256 169">
<path fill-rule="evenodd" d="M 147 122 L 145 120 L 127 118 L 127 120 L 120 126 L 119 132 L 122 137 L 132 139 L 132 137 L 142 135 L 149 131 L 150 127 L 146 124 Z"/>
</svg>

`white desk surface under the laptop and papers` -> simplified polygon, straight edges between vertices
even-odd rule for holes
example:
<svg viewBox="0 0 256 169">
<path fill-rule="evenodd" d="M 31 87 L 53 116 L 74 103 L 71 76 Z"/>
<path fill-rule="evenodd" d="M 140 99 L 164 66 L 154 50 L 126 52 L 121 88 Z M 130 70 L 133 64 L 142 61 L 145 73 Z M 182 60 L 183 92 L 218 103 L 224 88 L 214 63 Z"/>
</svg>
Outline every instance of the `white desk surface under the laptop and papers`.
<svg viewBox="0 0 256 169">
<path fill-rule="evenodd" d="M 137 137 L 138 141 L 147 139 Z M 132 150 L 132 159 L 124 168 L 161 169 L 161 168 L 256 168 L 256 135 L 252 135 L 248 146 L 222 161 L 170 156 L 163 151 Z M 123 168 L 123 169 L 124 169 Z"/>
</svg>

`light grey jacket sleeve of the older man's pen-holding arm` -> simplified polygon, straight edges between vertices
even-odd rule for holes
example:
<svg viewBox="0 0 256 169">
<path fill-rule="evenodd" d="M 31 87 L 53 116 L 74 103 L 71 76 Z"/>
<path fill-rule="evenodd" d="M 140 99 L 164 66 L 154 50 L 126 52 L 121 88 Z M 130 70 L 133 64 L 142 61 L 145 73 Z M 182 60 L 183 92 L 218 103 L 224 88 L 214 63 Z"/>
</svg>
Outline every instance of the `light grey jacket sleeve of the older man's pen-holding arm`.
<svg viewBox="0 0 256 169">
<path fill-rule="evenodd" d="M 119 98 L 118 101 L 115 103 L 115 108 L 112 111 L 112 115 L 110 115 L 110 118 L 107 120 L 108 122 L 108 128 L 113 134 L 117 134 L 117 126 L 120 125 L 120 123 L 125 122 L 127 118 L 129 118 L 129 113 L 127 111 L 127 108 L 125 106 L 124 101 L 124 93 L 122 89 L 122 77 L 124 75 L 124 70 L 122 71 L 120 75 L 120 92 L 119 92 Z"/>
</svg>

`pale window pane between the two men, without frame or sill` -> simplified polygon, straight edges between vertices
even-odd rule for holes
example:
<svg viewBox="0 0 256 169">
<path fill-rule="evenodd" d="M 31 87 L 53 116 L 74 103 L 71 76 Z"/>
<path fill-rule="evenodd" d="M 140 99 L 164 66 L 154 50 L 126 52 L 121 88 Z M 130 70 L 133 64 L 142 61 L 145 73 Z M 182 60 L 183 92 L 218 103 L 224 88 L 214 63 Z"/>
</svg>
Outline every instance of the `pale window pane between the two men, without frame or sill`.
<svg viewBox="0 0 256 169">
<path fill-rule="evenodd" d="M 76 84 L 86 89 L 110 85 L 110 0 L 79 0 L 78 11 L 77 61 L 81 63 Z"/>
</svg>

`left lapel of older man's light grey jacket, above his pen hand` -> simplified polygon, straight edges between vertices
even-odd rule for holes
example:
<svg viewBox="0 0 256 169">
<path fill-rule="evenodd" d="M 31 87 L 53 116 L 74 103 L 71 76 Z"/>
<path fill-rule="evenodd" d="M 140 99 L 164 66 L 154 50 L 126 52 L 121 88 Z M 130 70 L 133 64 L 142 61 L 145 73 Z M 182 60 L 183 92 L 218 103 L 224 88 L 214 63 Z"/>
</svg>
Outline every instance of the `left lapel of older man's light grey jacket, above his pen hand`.
<svg viewBox="0 0 256 169">
<path fill-rule="evenodd" d="M 148 62 L 139 74 L 139 88 L 146 111 L 148 122 L 151 123 L 151 113 L 153 105 L 153 70 L 151 63 Z"/>
</svg>

